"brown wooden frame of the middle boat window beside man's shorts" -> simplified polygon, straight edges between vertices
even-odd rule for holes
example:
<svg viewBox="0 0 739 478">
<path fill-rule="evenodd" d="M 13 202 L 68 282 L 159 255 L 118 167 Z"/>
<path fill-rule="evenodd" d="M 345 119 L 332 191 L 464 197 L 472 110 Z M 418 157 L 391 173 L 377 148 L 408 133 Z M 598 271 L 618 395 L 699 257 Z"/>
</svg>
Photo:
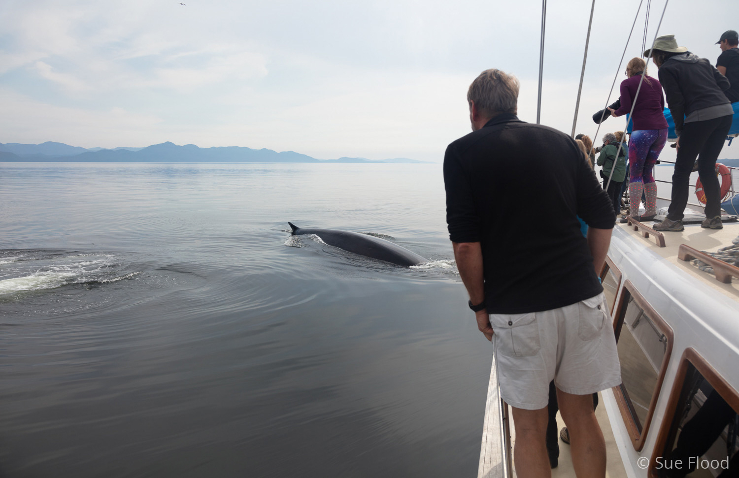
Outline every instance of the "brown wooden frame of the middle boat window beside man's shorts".
<svg viewBox="0 0 739 478">
<path fill-rule="evenodd" d="M 626 310 L 628 307 L 629 298 L 632 297 L 638 307 L 641 307 L 641 309 L 644 310 L 645 313 L 647 313 L 650 320 L 653 321 L 655 326 L 659 328 L 659 330 L 662 332 L 665 339 L 667 340 L 664 358 L 662 358 L 662 363 L 657 375 L 657 383 L 655 384 L 655 389 L 652 394 L 652 400 L 650 400 L 649 410 L 647 411 L 647 417 L 644 419 L 644 423 L 641 426 L 641 431 L 639 431 L 638 423 L 636 423 L 636 420 L 634 420 L 636 411 L 633 409 L 624 383 L 621 383 L 612 388 L 613 396 L 616 397 L 616 403 L 619 404 L 621 418 L 624 420 L 624 425 L 626 425 L 626 429 L 631 439 L 631 444 L 636 451 L 641 451 L 641 448 L 644 448 L 644 441 L 646 440 L 647 434 L 650 431 L 655 408 L 657 405 L 657 400 L 659 399 L 659 395 L 661 393 L 662 383 L 664 383 L 664 377 L 665 375 L 667 375 L 667 368 L 670 365 L 670 357 L 672 356 L 672 344 L 674 344 L 675 342 L 675 335 L 672 331 L 672 327 L 670 327 L 670 325 L 667 324 L 667 321 L 664 321 L 664 318 L 662 318 L 661 315 L 659 315 L 657 311 L 654 310 L 654 307 L 652 307 L 647 299 L 644 298 L 641 293 L 639 293 L 639 291 L 630 280 L 627 279 L 626 281 L 624 281 L 624 286 L 621 288 L 620 296 L 621 297 L 618 301 L 619 307 L 616 310 L 616 313 L 613 314 L 613 333 L 614 335 L 616 335 L 617 346 L 619 343 L 619 336 L 621 335 L 621 327 L 623 326 L 624 318 L 626 317 Z"/>
</svg>

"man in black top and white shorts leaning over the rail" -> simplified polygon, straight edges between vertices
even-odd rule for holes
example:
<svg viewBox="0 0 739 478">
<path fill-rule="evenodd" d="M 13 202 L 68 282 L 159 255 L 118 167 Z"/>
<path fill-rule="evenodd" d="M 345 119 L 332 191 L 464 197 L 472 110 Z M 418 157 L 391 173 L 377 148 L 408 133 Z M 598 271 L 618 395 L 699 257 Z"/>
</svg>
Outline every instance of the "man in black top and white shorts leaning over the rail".
<svg viewBox="0 0 739 478">
<path fill-rule="evenodd" d="M 517 475 L 551 474 L 545 430 L 554 379 L 576 474 L 605 477 L 592 394 L 621 383 L 597 276 L 613 206 L 571 137 L 516 117 L 518 89 L 497 69 L 469 88 L 473 132 L 444 157 L 449 237 L 477 327 L 495 337 Z M 587 239 L 578 216 L 590 226 Z"/>
</svg>

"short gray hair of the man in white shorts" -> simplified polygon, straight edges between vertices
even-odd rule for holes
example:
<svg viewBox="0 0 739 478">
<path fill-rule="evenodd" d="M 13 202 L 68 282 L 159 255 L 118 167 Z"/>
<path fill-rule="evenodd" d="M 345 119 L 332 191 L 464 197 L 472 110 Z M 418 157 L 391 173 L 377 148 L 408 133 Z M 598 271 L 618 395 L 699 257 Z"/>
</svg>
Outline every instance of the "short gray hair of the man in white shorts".
<svg viewBox="0 0 739 478">
<path fill-rule="evenodd" d="M 467 101 L 474 102 L 477 110 L 486 116 L 518 112 L 518 89 L 514 75 L 500 69 L 486 69 L 474 79 L 467 90 Z"/>
</svg>

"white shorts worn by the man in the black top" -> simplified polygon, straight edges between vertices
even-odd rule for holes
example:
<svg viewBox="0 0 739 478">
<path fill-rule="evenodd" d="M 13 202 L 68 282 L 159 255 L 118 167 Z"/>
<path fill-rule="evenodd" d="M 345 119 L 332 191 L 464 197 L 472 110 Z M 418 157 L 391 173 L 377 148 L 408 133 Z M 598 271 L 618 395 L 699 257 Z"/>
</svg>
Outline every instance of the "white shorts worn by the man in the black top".
<svg viewBox="0 0 739 478">
<path fill-rule="evenodd" d="M 500 395 L 519 409 L 543 409 L 549 382 L 589 395 L 621 383 L 613 324 L 601 293 L 559 309 L 490 314 Z"/>
</svg>

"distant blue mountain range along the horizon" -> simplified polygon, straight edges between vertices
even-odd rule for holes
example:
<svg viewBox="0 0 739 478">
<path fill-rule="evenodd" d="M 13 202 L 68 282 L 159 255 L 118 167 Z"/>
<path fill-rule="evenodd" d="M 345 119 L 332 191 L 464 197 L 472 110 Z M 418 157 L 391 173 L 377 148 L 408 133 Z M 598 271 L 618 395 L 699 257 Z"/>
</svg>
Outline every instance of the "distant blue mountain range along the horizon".
<svg viewBox="0 0 739 478">
<path fill-rule="evenodd" d="M 194 144 L 177 146 L 167 141 L 146 148 L 81 148 L 47 141 L 41 144 L 0 143 L 0 161 L 55 161 L 64 163 L 430 163 L 395 157 L 368 160 L 364 157 L 340 157 L 317 160 L 295 151 L 277 152 L 241 146 L 198 148 Z"/>
</svg>

